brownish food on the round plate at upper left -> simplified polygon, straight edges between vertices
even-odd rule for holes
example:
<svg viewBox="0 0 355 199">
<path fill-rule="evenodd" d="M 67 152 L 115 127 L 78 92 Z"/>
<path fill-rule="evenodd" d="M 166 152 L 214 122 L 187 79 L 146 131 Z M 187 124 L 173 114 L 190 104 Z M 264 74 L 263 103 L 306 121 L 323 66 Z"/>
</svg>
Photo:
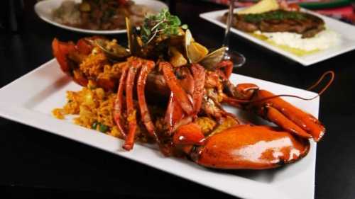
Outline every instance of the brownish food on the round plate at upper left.
<svg viewBox="0 0 355 199">
<path fill-rule="evenodd" d="M 117 30 L 126 28 L 125 18 L 141 25 L 144 16 L 153 11 L 148 6 L 130 0 L 63 1 L 52 11 L 53 21 L 88 30 Z"/>
</svg>

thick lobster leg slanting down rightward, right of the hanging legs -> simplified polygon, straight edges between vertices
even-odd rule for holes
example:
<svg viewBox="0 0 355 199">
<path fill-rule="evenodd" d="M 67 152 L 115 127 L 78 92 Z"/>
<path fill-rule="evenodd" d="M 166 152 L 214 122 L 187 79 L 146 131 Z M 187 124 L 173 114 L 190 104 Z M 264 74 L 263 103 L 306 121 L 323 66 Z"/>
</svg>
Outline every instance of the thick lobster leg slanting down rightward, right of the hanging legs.
<svg viewBox="0 0 355 199">
<path fill-rule="evenodd" d="M 160 62 L 159 67 L 163 69 L 164 79 L 170 90 L 174 93 L 174 96 L 177 98 L 182 110 L 188 115 L 191 115 L 194 111 L 192 101 L 190 101 L 189 96 L 178 83 L 178 79 L 171 68 L 171 64 L 168 62 Z"/>
</svg>

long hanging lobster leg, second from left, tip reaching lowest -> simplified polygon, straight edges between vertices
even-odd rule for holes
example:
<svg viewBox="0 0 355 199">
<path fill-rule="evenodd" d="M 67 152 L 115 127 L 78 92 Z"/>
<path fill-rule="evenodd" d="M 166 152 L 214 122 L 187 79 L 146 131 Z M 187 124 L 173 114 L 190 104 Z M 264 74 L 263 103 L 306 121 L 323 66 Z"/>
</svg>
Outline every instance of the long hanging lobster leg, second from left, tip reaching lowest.
<svg viewBox="0 0 355 199">
<path fill-rule="evenodd" d="M 136 59 L 136 57 L 129 60 L 129 72 L 126 79 L 126 106 L 127 120 L 129 122 L 129 133 L 127 134 L 126 142 L 123 146 L 123 148 L 127 151 L 133 148 L 134 135 L 136 134 L 137 129 L 136 109 L 134 108 L 133 103 L 133 86 L 134 80 L 136 79 L 136 73 L 138 69 L 141 68 L 141 64 L 141 59 Z"/>
</svg>

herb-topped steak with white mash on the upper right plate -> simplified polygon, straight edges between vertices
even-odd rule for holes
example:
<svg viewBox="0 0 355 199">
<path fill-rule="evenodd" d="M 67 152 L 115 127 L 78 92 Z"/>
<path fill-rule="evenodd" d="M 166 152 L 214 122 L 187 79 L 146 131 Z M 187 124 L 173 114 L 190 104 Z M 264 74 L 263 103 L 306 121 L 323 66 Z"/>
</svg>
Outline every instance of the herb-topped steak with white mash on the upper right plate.
<svg viewBox="0 0 355 199">
<path fill-rule="evenodd" d="M 300 11 L 297 4 L 263 0 L 254 6 L 257 9 L 251 6 L 234 13 L 232 26 L 299 56 L 339 45 L 339 35 L 322 18 Z M 223 22 L 227 16 L 222 16 Z"/>
</svg>

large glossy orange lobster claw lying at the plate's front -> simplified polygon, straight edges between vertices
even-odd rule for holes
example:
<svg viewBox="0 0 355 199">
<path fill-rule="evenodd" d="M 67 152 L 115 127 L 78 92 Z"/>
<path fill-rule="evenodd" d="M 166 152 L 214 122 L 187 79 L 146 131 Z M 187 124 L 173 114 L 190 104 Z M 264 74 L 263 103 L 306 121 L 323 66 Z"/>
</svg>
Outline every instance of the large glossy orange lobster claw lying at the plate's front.
<svg viewBox="0 0 355 199">
<path fill-rule="evenodd" d="M 275 127 L 236 125 L 207 137 L 190 157 L 217 169 L 272 169 L 305 157 L 310 142 Z"/>
</svg>

